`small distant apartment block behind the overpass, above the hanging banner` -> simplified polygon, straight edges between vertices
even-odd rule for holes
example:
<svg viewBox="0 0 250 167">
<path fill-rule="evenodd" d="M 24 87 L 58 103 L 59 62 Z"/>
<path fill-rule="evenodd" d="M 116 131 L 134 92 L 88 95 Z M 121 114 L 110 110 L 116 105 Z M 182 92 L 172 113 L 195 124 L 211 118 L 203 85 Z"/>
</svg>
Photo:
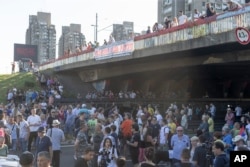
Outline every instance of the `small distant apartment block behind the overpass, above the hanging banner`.
<svg viewBox="0 0 250 167">
<path fill-rule="evenodd" d="M 132 39 L 134 36 L 134 23 L 124 21 L 123 24 L 113 24 L 112 34 L 116 41 Z"/>
</svg>

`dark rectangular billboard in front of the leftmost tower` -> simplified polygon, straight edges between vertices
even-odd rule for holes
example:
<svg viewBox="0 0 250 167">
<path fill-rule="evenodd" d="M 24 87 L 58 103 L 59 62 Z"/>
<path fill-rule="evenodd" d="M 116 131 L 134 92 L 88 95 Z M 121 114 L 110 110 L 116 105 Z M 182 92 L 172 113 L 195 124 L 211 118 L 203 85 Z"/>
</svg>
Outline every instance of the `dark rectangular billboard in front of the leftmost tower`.
<svg viewBox="0 0 250 167">
<path fill-rule="evenodd" d="M 14 44 L 14 61 L 32 60 L 37 63 L 37 45 Z"/>
</svg>

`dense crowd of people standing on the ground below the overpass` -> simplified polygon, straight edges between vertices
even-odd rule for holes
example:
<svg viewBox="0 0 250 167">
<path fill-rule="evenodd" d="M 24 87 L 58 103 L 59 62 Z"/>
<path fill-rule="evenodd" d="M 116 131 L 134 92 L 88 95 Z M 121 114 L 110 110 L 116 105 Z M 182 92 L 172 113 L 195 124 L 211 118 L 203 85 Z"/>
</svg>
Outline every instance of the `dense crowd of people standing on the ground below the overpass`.
<svg viewBox="0 0 250 167">
<path fill-rule="evenodd" d="M 134 166 L 166 161 L 176 167 L 208 163 L 221 167 L 222 160 L 224 166 L 229 164 L 230 151 L 249 150 L 250 117 L 239 105 L 228 106 L 225 125 L 215 132 L 216 114 L 213 103 L 199 111 L 191 104 L 172 103 L 166 111 L 151 104 L 138 105 L 135 114 L 121 113 L 115 103 L 110 108 L 93 103 L 55 106 L 53 101 L 47 106 L 37 101 L 29 106 L 1 105 L 0 155 L 20 150 L 22 165 L 26 162 L 22 157 L 30 158 L 34 152 L 35 165 L 44 167 L 44 162 L 60 167 L 60 143 L 73 140 L 75 167 L 116 167 L 118 160 L 125 165 L 128 158 Z M 188 136 L 188 124 L 194 119 L 201 119 L 201 123 L 196 135 Z"/>
</svg>

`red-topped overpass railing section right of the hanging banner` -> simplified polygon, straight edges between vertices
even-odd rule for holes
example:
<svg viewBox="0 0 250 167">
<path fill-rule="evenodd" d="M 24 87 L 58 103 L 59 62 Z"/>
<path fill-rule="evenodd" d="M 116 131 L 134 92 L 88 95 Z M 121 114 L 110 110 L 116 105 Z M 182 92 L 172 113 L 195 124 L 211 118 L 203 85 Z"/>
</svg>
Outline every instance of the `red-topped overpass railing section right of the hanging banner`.
<svg viewBox="0 0 250 167">
<path fill-rule="evenodd" d="M 180 41 L 219 34 L 236 27 L 250 26 L 250 6 L 233 12 L 226 12 L 170 29 L 135 37 L 135 50 L 173 44 Z"/>
</svg>

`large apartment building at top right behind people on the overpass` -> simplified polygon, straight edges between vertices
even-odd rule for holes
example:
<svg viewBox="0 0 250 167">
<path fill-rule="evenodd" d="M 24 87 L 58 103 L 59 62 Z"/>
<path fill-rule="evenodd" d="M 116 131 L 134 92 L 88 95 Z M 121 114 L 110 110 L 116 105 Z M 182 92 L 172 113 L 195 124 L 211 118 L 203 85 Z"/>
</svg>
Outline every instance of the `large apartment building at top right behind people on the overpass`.
<svg viewBox="0 0 250 167">
<path fill-rule="evenodd" d="M 189 20 L 193 19 L 194 9 L 202 14 L 206 13 L 206 3 L 210 2 L 216 13 L 221 13 L 227 7 L 227 0 L 158 0 L 158 23 L 163 24 L 168 17 L 173 19 L 178 17 L 178 12 L 183 11 Z M 238 0 L 245 3 L 245 0 Z"/>
</svg>

